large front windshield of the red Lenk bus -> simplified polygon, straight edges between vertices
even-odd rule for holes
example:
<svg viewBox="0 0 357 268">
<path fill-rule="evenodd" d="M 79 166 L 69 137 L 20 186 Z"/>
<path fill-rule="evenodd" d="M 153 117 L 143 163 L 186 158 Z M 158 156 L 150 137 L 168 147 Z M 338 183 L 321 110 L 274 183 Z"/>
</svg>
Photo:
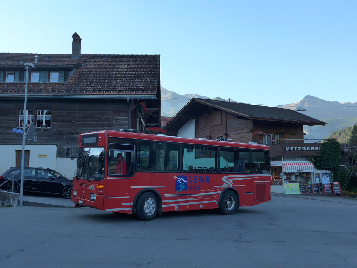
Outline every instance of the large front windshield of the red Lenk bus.
<svg viewBox="0 0 357 268">
<path fill-rule="evenodd" d="M 79 149 L 76 179 L 104 179 L 104 155 L 104 148 Z"/>
</svg>

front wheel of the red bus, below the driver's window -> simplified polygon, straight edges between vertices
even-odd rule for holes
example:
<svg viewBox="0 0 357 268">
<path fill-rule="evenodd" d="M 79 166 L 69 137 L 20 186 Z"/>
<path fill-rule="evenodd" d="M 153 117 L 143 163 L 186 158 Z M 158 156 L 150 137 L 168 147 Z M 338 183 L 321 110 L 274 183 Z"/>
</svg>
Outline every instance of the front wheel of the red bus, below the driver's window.
<svg viewBox="0 0 357 268">
<path fill-rule="evenodd" d="M 157 214 L 158 202 L 156 195 L 151 192 L 143 193 L 136 202 L 136 215 L 141 220 L 152 220 Z"/>
</svg>

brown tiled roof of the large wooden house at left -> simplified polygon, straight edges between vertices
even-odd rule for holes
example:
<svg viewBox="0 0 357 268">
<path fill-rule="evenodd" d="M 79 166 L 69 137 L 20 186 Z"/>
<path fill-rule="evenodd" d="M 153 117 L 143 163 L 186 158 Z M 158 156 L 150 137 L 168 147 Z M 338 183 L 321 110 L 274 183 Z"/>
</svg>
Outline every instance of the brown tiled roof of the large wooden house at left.
<svg viewBox="0 0 357 268">
<path fill-rule="evenodd" d="M 38 55 L 38 63 L 35 63 Z M 20 64 L 22 61 L 22 64 Z M 79 66 L 67 83 L 28 83 L 30 94 L 46 95 L 152 95 L 160 81 L 160 55 L 91 55 L 0 53 L 0 66 L 25 62 L 44 66 Z M 25 70 L 25 68 L 24 68 Z M 1 83 L 0 94 L 24 94 L 25 83 Z"/>
</svg>

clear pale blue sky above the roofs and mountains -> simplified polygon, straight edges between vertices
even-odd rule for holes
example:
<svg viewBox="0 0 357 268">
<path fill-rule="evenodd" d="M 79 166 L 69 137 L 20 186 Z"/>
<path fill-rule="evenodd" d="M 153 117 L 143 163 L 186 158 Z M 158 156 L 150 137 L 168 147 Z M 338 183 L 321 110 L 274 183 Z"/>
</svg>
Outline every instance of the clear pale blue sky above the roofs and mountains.
<svg viewBox="0 0 357 268">
<path fill-rule="evenodd" d="M 160 54 L 161 86 L 252 104 L 357 101 L 356 0 L 4 1 L 0 52 Z"/>
</svg>

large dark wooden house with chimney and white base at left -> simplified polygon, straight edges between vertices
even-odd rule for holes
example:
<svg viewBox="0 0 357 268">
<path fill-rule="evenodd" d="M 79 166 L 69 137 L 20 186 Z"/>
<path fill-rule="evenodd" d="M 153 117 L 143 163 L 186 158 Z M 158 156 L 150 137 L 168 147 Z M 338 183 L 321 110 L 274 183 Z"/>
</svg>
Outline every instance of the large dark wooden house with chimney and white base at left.
<svg viewBox="0 0 357 268">
<path fill-rule="evenodd" d="M 0 172 L 19 166 L 22 135 L 13 129 L 30 121 L 38 140 L 26 140 L 25 165 L 62 172 L 59 158 L 76 154 L 80 133 L 160 127 L 160 55 L 80 51 L 74 33 L 71 54 L 0 53 Z M 34 65 L 28 77 L 24 63 Z"/>
</svg>

